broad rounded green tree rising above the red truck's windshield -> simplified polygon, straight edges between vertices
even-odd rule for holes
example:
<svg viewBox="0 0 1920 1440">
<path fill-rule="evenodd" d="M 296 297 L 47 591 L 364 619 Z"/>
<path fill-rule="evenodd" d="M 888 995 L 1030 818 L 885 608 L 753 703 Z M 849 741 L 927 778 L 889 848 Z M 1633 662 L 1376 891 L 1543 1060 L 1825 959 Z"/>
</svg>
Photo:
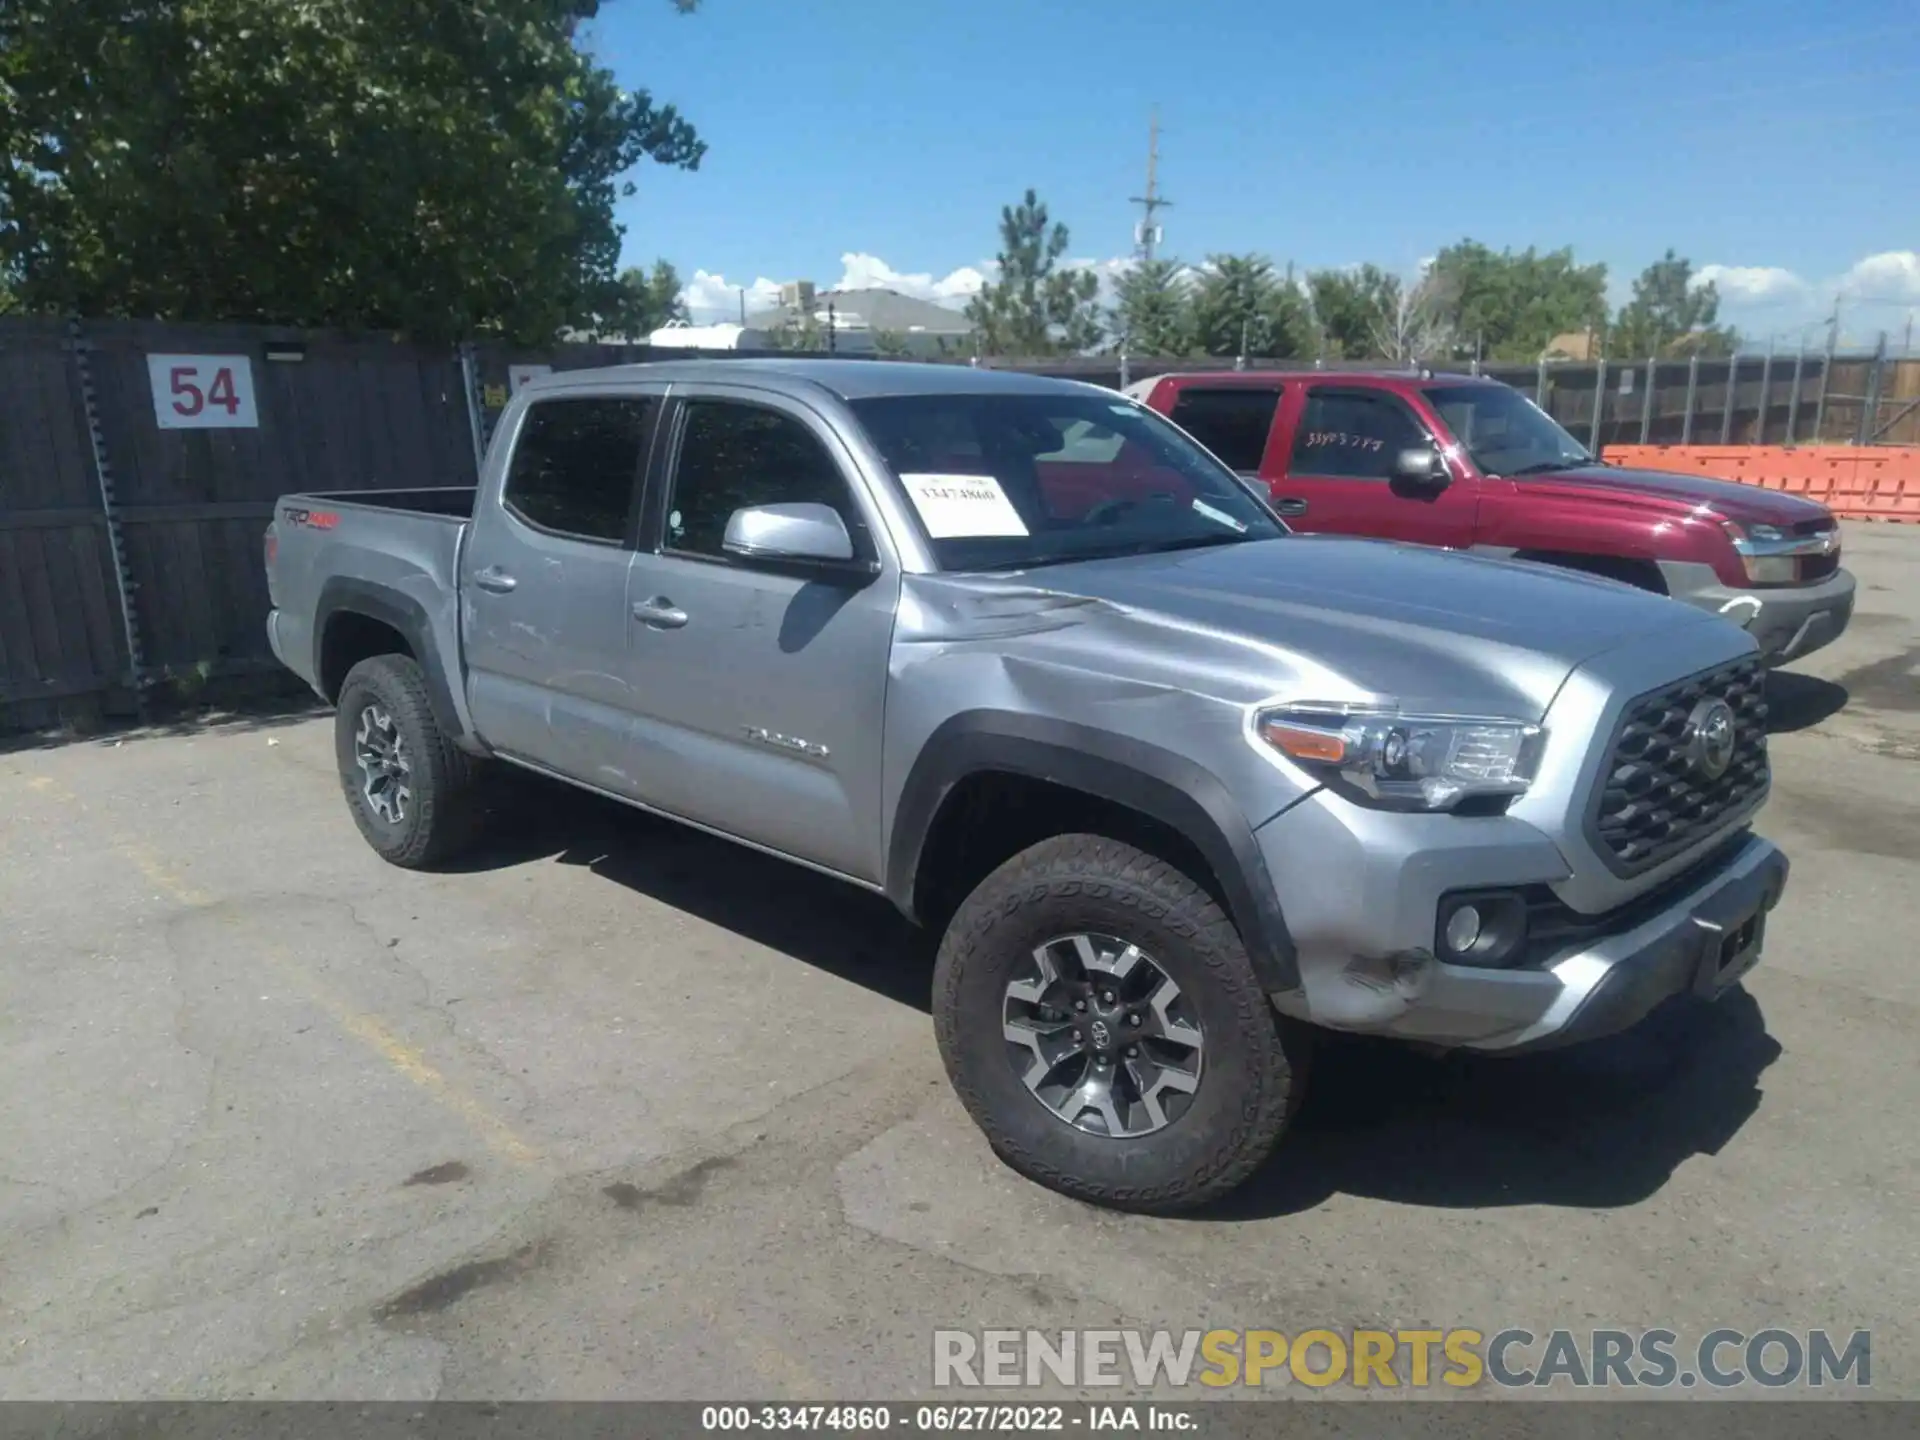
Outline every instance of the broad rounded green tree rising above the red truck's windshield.
<svg viewBox="0 0 1920 1440">
<path fill-rule="evenodd" d="M 1461 240 L 1434 255 L 1427 276 L 1467 355 L 1534 359 L 1553 336 L 1607 323 L 1607 267 L 1578 265 L 1572 250 L 1496 253 Z"/>
</svg>

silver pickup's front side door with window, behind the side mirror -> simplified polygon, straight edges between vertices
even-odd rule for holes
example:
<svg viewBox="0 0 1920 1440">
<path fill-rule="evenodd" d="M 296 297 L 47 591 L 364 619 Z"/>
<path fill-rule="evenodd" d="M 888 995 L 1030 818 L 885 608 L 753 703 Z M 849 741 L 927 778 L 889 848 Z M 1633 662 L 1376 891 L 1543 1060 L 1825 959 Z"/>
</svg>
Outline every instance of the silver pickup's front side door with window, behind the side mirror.
<svg viewBox="0 0 1920 1440">
<path fill-rule="evenodd" d="M 628 580 L 636 707 L 674 814 L 881 877 L 879 739 L 899 563 L 852 457 L 812 409 L 751 386 L 674 386 Z M 833 507 L 851 578 L 722 549 L 749 505 Z"/>
</svg>

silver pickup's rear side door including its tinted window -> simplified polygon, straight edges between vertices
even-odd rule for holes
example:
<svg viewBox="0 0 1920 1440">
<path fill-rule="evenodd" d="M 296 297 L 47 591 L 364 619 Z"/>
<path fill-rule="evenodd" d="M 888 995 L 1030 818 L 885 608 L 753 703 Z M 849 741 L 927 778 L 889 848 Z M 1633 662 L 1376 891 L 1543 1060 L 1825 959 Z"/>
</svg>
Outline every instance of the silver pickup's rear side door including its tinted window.
<svg viewBox="0 0 1920 1440">
<path fill-rule="evenodd" d="M 495 751 L 637 795 L 626 572 L 664 386 L 528 405 L 461 555 L 474 726 Z"/>
</svg>

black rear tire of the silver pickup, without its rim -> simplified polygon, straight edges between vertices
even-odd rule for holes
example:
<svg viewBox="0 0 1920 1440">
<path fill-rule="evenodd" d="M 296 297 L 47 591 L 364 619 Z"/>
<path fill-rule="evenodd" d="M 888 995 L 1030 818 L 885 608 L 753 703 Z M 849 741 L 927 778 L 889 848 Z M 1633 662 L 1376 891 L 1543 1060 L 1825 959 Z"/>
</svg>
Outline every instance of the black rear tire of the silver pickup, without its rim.
<svg viewBox="0 0 1920 1440">
<path fill-rule="evenodd" d="M 397 822 L 374 812 L 353 758 L 361 710 L 378 705 L 394 718 L 411 764 L 411 803 Z M 405 870 L 426 870 L 459 854 L 480 829 L 480 762 L 459 749 L 434 718 L 426 674 L 407 655 L 376 655 L 355 664 L 340 685 L 334 758 L 353 824 L 374 852 Z"/>
</svg>

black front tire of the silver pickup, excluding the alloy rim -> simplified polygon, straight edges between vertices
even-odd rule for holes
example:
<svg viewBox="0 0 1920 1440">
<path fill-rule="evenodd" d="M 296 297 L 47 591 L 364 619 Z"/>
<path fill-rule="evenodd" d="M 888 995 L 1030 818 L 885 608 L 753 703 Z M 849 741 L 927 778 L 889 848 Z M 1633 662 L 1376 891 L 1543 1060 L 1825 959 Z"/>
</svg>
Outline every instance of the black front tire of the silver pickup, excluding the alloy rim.
<svg viewBox="0 0 1920 1440">
<path fill-rule="evenodd" d="M 1110 1139 L 1029 1092 L 1006 1052 L 1006 983 L 1037 945 L 1104 933 L 1146 950 L 1206 1035 L 1200 1087 L 1164 1129 Z M 933 1029 L 947 1075 L 1008 1165 L 1116 1210 L 1173 1213 L 1217 1200 L 1273 1152 L 1296 1096 L 1290 1048 L 1219 904 L 1165 860 L 1100 835 L 1058 835 L 1002 864 L 960 904 L 933 970 Z M 1302 1054 L 1304 1058 L 1304 1054 Z"/>
</svg>

